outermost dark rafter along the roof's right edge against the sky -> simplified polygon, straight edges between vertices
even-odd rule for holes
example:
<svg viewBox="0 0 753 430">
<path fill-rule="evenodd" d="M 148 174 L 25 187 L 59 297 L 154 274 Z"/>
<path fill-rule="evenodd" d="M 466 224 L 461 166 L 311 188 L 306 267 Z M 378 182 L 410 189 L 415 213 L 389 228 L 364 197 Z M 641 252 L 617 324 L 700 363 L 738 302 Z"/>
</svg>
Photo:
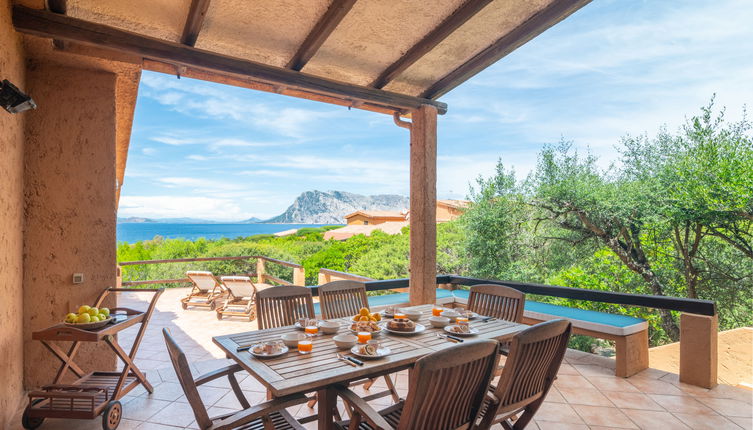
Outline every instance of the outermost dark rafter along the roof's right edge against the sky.
<svg viewBox="0 0 753 430">
<path fill-rule="evenodd" d="M 436 100 L 450 90 L 470 79 L 478 72 L 491 66 L 505 55 L 519 48 L 544 30 L 567 18 L 573 12 L 587 5 L 591 0 L 555 0 L 534 14 L 523 24 L 502 36 L 491 46 L 476 54 L 462 66 L 448 73 L 434 83 L 421 97 Z"/>
</svg>

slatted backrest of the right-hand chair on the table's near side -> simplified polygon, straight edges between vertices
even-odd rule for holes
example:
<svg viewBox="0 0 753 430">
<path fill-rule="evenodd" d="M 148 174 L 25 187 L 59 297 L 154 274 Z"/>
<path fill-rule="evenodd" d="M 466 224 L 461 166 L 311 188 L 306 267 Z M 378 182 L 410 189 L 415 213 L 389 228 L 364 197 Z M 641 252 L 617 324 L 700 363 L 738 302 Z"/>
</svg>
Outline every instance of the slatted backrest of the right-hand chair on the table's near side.
<svg viewBox="0 0 753 430">
<path fill-rule="evenodd" d="M 494 393 L 500 402 L 497 415 L 546 396 L 562 364 L 571 330 L 569 321 L 557 319 L 536 324 L 513 337 Z"/>
</svg>

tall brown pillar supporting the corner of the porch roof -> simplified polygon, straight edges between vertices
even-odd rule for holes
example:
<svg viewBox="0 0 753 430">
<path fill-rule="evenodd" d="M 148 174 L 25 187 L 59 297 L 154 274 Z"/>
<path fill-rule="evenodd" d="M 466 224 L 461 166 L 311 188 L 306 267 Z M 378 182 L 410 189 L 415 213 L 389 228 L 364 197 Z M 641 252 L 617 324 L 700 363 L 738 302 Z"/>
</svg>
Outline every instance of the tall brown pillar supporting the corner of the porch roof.
<svg viewBox="0 0 753 430">
<path fill-rule="evenodd" d="M 437 110 L 421 106 L 410 126 L 410 304 L 436 301 Z"/>
</svg>

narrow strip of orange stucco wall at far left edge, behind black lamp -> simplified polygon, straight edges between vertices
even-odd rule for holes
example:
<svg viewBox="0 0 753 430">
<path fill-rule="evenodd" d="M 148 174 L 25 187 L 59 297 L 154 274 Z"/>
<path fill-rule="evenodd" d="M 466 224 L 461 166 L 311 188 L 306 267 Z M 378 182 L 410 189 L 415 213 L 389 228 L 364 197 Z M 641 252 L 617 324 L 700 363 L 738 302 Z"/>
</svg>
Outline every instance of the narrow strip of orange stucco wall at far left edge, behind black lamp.
<svg viewBox="0 0 753 430">
<path fill-rule="evenodd" d="M 0 79 L 26 85 L 21 41 L 0 0 Z M 23 143 L 25 114 L 0 109 L 0 428 L 13 428 L 24 401 L 23 370 Z"/>
</svg>

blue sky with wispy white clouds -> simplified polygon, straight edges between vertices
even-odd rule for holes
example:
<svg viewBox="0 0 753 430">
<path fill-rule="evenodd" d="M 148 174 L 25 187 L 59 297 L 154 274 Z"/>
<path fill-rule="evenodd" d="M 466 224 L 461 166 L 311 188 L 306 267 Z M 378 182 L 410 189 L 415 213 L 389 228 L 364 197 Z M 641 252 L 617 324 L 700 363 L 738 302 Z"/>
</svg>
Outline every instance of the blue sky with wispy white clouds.
<svg viewBox="0 0 753 430">
<path fill-rule="evenodd" d="M 605 167 L 625 134 L 675 129 L 717 95 L 753 102 L 753 1 L 596 0 L 442 98 L 440 198 L 501 158 L 524 177 L 561 137 Z M 408 194 L 387 115 L 144 72 L 118 216 L 271 217 L 307 190 Z"/>
</svg>

